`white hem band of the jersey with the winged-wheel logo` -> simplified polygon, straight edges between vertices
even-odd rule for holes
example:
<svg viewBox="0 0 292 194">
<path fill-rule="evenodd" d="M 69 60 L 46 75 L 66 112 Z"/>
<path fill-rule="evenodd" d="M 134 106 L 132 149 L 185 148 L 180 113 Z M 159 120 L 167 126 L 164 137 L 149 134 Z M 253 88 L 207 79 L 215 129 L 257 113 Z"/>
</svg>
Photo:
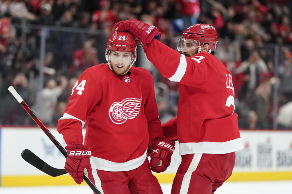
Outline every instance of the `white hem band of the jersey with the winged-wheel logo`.
<svg viewBox="0 0 292 194">
<path fill-rule="evenodd" d="M 138 158 L 129 160 L 127 162 L 112 162 L 109 160 L 101 159 L 98 157 L 91 156 L 90 164 L 92 169 L 105 170 L 110 172 L 123 172 L 133 170 L 141 166 L 146 159 L 146 151 Z"/>
</svg>

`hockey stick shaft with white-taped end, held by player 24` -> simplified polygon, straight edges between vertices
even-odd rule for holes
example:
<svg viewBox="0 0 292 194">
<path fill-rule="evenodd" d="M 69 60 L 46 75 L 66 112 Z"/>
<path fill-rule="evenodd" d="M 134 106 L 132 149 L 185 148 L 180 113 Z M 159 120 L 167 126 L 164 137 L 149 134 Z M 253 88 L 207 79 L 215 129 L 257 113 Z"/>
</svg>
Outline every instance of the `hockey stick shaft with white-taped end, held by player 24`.
<svg viewBox="0 0 292 194">
<path fill-rule="evenodd" d="M 61 144 L 57 141 L 57 139 L 51 134 L 49 129 L 40 121 L 40 119 L 34 114 L 32 109 L 24 102 L 21 96 L 16 92 L 12 85 L 8 88 L 9 92 L 14 96 L 14 98 L 19 102 L 20 105 L 26 110 L 26 112 L 30 115 L 30 117 L 36 122 L 37 125 L 43 130 L 43 132 L 48 136 L 48 138 L 54 143 L 54 145 L 60 150 L 60 152 L 67 158 L 66 150 L 61 146 Z M 101 194 L 96 186 L 91 182 L 91 180 L 85 175 L 83 172 L 83 180 L 89 185 L 89 187 L 96 194 Z"/>
</svg>

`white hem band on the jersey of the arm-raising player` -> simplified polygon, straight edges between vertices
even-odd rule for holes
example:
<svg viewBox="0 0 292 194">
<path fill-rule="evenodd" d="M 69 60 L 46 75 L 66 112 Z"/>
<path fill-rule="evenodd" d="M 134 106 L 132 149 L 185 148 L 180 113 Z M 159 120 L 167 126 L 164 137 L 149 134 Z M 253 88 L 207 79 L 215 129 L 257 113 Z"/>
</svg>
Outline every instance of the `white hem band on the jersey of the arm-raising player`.
<svg viewBox="0 0 292 194">
<path fill-rule="evenodd" d="M 241 138 L 227 142 L 179 143 L 179 155 L 186 154 L 226 154 L 243 148 Z"/>
</svg>

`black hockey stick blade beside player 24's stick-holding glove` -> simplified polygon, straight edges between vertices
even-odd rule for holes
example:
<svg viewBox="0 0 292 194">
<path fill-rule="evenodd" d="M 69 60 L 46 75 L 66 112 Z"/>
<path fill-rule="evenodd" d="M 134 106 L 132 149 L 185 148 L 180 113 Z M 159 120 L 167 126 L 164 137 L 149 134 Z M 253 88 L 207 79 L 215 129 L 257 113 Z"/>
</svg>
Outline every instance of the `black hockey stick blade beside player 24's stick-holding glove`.
<svg viewBox="0 0 292 194">
<path fill-rule="evenodd" d="M 32 166 L 36 167 L 40 171 L 46 173 L 47 175 L 56 177 L 60 175 L 64 175 L 67 172 L 65 169 L 56 169 L 50 165 L 48 165 L 46 162 L 44 162 L 42 159 L 40 159 L 38 156 L 36 156 L 32 151 L 29 149 L 25 149 L 21 153 L 21 157 L 31 164 Z"/>
</svg>

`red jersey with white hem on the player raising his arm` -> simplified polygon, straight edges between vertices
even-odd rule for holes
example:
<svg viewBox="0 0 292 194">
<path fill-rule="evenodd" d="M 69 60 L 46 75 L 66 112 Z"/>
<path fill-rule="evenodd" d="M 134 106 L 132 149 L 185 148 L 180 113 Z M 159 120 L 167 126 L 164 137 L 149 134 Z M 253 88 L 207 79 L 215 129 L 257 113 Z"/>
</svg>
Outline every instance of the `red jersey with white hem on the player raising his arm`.
<svg viewBox="0 0 292 194">
<path fill-rule="evenodd" d="M 186 57 L 156 39 L 146 55 L 164 77 L 180 83 L 177 117 L 162 125 L 166 137 L 178 138 L 180 155 L 243 148 L 232 76 L 215 56 L 201 52 Z"/>
</svg>

